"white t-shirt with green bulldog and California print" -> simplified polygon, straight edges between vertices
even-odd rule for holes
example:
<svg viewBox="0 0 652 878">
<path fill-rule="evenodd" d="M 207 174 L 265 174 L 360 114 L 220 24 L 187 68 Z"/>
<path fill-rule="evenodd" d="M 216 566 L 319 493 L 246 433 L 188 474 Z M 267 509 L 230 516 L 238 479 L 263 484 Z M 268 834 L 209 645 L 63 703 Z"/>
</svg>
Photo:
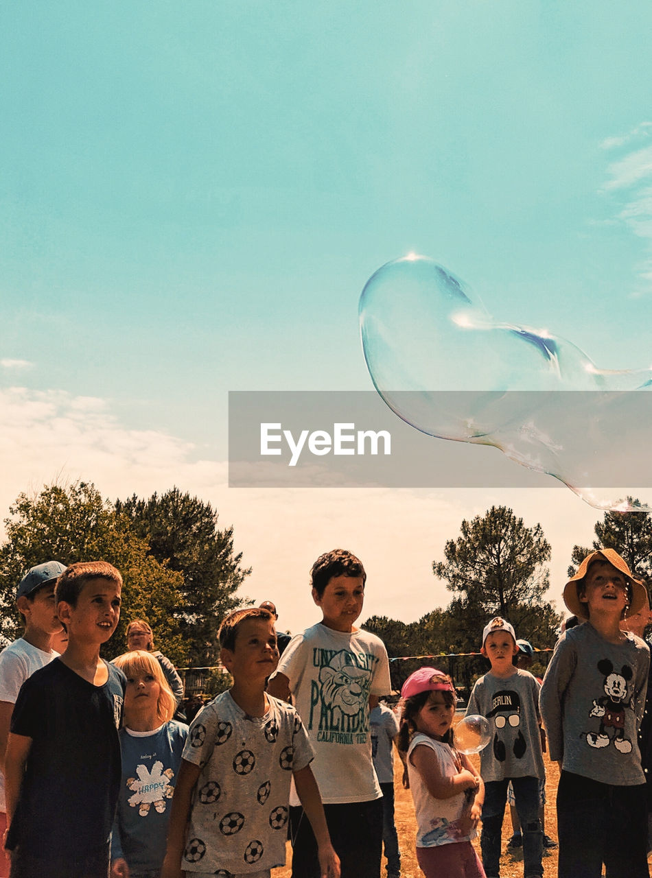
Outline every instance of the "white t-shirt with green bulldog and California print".
<svg viewBox="0 0 652 878">
<path fill-rule="evenodd" d="M 382 795 L 373 770 L 369 695 L 391 691 L 388 653 L 369 631 L 322 623 L 292 638 L 278 673 L 315 748 L 313 772 L 324 804 L 369 802 Z M 298 805 L 294 792 L 291 805 Z"/>
</svg>

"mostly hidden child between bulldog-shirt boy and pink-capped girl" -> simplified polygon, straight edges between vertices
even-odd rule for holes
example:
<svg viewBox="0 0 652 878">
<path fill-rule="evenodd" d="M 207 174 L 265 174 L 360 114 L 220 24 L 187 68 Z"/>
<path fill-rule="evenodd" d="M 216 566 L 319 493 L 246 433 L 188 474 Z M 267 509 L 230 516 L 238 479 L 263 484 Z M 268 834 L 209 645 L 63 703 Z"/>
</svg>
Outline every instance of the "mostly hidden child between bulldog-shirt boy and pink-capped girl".
<svg viewBox="0 0 652 878">
<path fill-rule="evenodd" d="M 394 748 L 398 745 L 398 720 L 387 704 L 377 704 L 369 714 L 372 758 L 382 791 L 382 845 L 388 860 L 388 878 L 401 878 L 401 850 L 394 822 Z"/>
</svg>

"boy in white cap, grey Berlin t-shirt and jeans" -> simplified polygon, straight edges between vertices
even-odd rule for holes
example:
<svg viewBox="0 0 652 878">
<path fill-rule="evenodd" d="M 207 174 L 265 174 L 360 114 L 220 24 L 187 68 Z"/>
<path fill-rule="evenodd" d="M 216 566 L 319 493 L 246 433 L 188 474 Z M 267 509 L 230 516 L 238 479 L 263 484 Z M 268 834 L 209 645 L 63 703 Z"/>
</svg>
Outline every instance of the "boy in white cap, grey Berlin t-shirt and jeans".
<svg viewBox="0 0 652 878">
<path fill-rule="evenodd" d="M 482 865 L 487 878 L 500 874 L 501 831 L 507 785 L 511 781 L 523 834 L 523 874 L 543 875 L 543 832 L 539 819 L 539 783 L 544 776 L 541 753 L 539 683 L 528 671 L 512 664 L 518 653 L 516 634 L 500 616 L 482 631 L 482 655 L 491 670 L 475 681 L 467 716 L 486 716 L 493 741 L 481 755 L 484 781 L 482 805 Z"/>
</svg>

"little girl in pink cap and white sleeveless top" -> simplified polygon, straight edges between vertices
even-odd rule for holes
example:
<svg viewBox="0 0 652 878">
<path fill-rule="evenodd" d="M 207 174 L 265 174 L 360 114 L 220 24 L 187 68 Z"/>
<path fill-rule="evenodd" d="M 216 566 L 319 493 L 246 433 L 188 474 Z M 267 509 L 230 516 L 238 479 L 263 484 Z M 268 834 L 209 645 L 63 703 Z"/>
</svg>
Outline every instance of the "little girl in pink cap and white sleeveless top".
<svg viewBox="0 0 652 878">
<path fill-rule="evenodd" d="M 405 681 L 401 697 L 399 750 L 407 751 L 421 871 L 426 878 L 485 878 L 471 845 L 484 787 L 453 746 L 453 682 L 433 667 L 422 667 Z"/>
</svg>

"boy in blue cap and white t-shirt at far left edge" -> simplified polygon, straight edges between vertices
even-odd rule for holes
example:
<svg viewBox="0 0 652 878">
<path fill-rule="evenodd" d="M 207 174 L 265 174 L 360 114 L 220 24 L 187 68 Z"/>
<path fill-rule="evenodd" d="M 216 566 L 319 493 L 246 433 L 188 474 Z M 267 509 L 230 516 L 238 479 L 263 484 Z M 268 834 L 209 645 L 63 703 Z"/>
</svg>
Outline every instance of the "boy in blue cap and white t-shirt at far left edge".
<svg viewBox="0 0 652 878">
<path fill-rule="evenodd" d="M 0 838 L 7 828 L 4 802 L 4 751 L 7 749 L 13 706 L 25 680 L 56 658 L 54 636 L 62 630 L 56 615 L 54 586 L 65 570 L 59 561 L 32 567 L 18 583 L 16 607 L 23 616 L 22 637 L 0 652 Z M 9 875 L 9 859 L 0 853 L 0 878 Z"/>
</svg>

